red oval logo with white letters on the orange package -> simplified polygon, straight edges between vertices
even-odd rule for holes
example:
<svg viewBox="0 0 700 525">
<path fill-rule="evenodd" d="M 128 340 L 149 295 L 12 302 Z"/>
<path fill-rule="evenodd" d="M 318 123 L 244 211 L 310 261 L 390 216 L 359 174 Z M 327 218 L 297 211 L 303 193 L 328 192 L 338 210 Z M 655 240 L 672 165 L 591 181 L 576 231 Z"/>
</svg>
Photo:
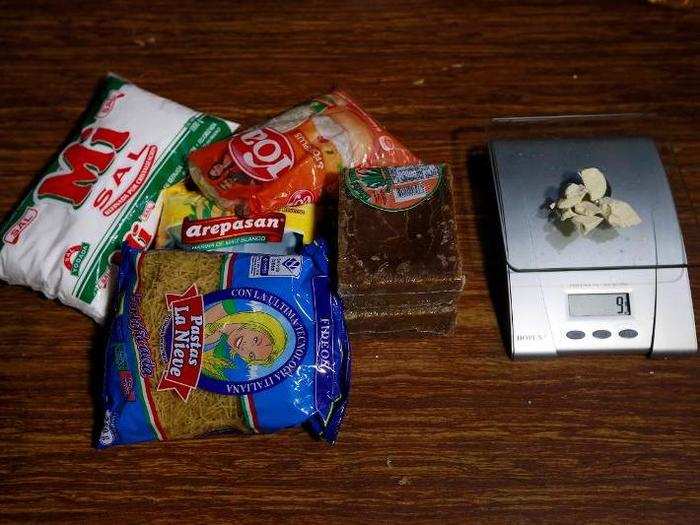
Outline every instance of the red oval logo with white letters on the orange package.
<svg viewBox="0 0 700 525">
<path fill-rule="evenodd" d="M 294 166 L 294 149 L 279 131 L 260 128 L 235 135 L 228 143 L 238 167 L 253 179 L 269 182 Z"/>
</svg>

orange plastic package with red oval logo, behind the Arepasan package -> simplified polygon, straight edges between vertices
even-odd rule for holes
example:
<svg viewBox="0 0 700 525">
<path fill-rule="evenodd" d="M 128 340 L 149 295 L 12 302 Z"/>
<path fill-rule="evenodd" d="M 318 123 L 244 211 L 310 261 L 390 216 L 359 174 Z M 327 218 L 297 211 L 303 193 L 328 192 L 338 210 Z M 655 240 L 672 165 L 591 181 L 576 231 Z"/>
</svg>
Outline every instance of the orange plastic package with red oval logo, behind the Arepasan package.
<svg viewBox="0 0 700 525">
<path fill-rule="evenodd" d="M 189 155 L 202 193 L 239 216 L 316 202 L 344 168 L 419 162 L 342 91 Z"/>
</svg>

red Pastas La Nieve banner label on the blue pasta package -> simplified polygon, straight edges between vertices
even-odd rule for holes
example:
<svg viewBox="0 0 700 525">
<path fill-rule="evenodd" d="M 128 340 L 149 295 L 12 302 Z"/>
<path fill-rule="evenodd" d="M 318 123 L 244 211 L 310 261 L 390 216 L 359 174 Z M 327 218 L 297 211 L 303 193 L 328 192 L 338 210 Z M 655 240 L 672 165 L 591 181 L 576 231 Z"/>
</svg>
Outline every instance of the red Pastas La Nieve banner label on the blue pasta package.
<svg viewBox="0 0 700 525">
<path fill-rule="evenodd" d="M 170 359 L 158 390 L 175 390 L 187 401 L 202 369 L 204 300 L 194 284 L 181 295 L 166 294 L 165 300 L 172 319 Z"/>
</svg>

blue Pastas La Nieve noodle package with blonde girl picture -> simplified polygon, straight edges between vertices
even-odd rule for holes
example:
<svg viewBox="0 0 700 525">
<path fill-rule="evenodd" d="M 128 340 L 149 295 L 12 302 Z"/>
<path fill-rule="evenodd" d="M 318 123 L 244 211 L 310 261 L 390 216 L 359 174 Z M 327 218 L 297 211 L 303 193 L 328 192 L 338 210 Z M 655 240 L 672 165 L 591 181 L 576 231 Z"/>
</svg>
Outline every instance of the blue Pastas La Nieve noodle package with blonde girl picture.
<svg viewBox="0 0 700 525">
<path fill-rule="evenodd" d="M 98 448 L 303 425 L 334 442 L 350 345 L 323 241 L 298 255 L 124 246 Z"/>
</svg>

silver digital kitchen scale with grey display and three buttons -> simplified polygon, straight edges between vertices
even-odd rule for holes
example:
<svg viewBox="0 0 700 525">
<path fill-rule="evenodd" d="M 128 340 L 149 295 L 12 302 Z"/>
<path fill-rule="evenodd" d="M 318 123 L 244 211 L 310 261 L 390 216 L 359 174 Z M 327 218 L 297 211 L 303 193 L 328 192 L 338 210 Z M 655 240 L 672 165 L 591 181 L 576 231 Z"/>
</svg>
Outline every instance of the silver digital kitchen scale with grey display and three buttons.
<svg viewBox="0 0 700 525">
<path fill-rule="evenodd" d="M 651 139 L 496 140 L 489 150 L 513 358 L 697 351 L 683 237 Z M 589 167 L 640 224 L 584 236 L 552 217 L 547 204 Z"/>
</svg>

